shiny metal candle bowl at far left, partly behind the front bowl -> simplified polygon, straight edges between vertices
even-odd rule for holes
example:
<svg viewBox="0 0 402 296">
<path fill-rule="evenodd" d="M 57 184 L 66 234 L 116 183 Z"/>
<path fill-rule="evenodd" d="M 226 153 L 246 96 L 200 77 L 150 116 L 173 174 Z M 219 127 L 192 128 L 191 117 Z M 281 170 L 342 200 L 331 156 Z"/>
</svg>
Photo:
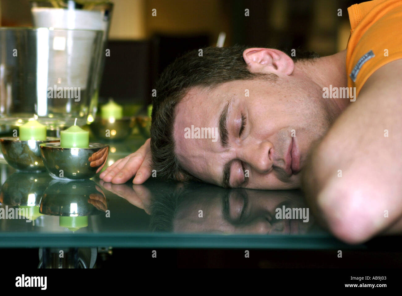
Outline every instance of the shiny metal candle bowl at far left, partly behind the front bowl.
<svg viewBox="0 0 402 296">
<path fill-rule="evenodd" d="M 7 163 L 16 170 L 31 172 L 45 171 L 39 146 L 42 143 L 56 143 L 60 139 L 47 137 L 46 141 L 20 141 L 19 137 L 0 138 L 1 151 Z"/>
</svg>

